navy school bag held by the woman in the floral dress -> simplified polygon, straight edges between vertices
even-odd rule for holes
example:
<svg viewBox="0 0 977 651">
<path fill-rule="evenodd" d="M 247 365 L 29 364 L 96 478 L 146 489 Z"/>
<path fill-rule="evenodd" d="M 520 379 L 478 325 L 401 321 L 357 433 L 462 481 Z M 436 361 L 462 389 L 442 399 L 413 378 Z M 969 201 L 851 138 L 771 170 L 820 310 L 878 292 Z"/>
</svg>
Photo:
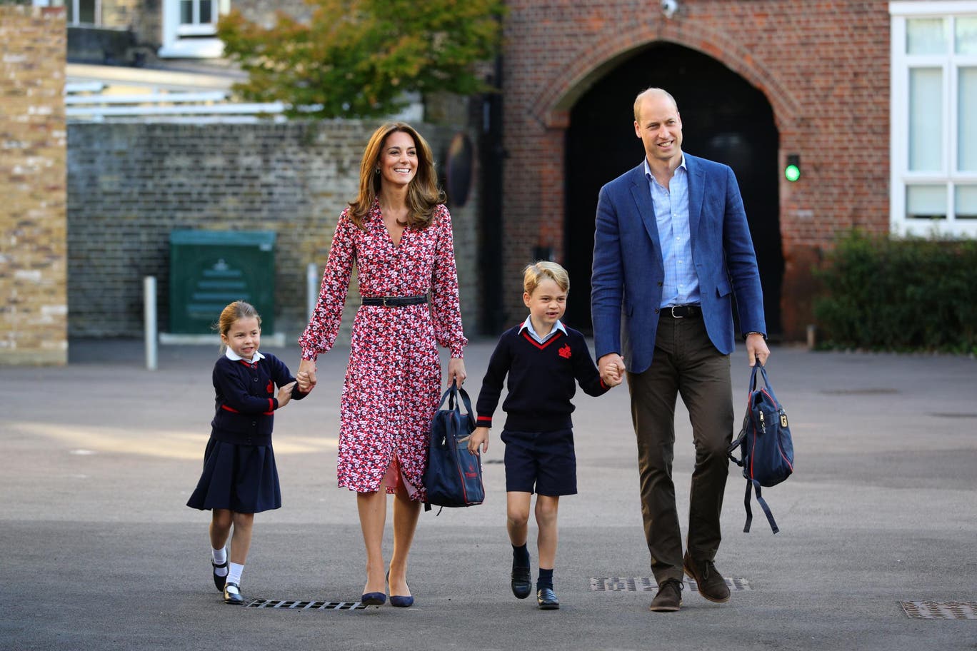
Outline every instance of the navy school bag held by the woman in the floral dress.
<svg viewBox="0 0 977 651">
<path fill-rule="evenodd" d="M 464 414 L 461 413 L 462 401 Z M 482 455 L 469 452 L 466 442 L 474 429 L 472 401 L 465 389 L 451 383 L 431 420 L 428 463 L 424 471 L 424 487 L 427 489 L 424 510 L 431 510 L 431 505 L 473 507 L 485 501 Z"/>
</svg>

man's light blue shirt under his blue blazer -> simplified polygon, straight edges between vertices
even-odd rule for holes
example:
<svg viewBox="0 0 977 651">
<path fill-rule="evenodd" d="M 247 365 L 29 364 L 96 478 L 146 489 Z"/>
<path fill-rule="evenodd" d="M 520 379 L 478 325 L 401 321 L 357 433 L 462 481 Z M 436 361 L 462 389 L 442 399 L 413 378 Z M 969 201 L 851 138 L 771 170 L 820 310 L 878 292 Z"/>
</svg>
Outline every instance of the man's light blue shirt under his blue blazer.
<svg viewBox="0 0 977 651">
<path fill-rule="evenodd" d="M 675 174 L 663 187 L 652 176 L 645 158 L 645 178 L 655 205 L 658 241 L 661 243 L 661 264 L 665 277 L 661 284 L 661 305 L 699 305 L 699 276 L 692 262 L 692 240 L 689 229 L 689 171 L 685 154 Z"/>
</svg>

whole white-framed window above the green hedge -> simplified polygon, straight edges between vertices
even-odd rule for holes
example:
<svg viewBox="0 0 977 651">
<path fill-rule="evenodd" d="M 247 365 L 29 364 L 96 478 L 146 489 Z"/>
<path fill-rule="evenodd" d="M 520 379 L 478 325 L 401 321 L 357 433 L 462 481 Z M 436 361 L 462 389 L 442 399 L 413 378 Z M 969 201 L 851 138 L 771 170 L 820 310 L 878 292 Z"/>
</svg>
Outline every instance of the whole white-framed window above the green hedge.
<svg viewBox="0 0 977 651">
<path fill-rule="evenodd" d="M 892 232 L 977 236 L 977 0 L 889 15 Z"/>
</svg>

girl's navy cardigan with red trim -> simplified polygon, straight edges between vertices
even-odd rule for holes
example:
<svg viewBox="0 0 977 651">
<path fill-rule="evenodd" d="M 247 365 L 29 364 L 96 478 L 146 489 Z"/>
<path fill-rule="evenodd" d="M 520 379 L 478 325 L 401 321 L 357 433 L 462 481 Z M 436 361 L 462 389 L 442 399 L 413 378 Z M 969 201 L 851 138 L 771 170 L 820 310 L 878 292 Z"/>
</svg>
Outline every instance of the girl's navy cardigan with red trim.
<svg viewBox="0 0 977 651">
<path fill-rule="evenodd" d="M 234 361 L 225 355 L 214 364 L 214 390 L 217 392 L 214 420 L 210 435 L 219 441 L 238 445 L 271 445 L 275 410 L 278 408 L 276 387 L 295 382 L 288 367 L 275 355 L 262 353 L 264 359 L 250 364 Z M 308 393 L 292 387 L 292 400 Z"/>
</svg>

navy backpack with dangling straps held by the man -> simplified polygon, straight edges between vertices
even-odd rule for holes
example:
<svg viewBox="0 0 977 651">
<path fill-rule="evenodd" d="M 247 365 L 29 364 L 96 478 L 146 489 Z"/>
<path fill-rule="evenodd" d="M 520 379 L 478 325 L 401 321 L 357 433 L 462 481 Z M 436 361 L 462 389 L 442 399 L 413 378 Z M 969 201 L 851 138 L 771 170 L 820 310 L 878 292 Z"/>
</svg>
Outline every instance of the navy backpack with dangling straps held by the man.
<svg viewBox="0 0 977 651">
<path fill-rule="evenodd" d="M 756 372 L 763 377 L 763 387 L 756 386 Z M 740 459 L 733 456 L 740 448 Z M 776 486 L 793 472 L 793 440 L 784 407 L 777 400 L 774 387 L 767 377 L 767 369 L 759 361 L 749 374 L 749 391 L 746 400 L 746 415 L 743 429 L 729 447 L 729 457 L 737 466 L 743 468 L 746 477 L 746 525 L 743 532 L 749 531 L 753 521 L 753 511 L 749 508 L 750 492 L 756 491 L 756 501 L 767 515 L 770 528 L 776 534 L 780 531 L 774 514 L 770 512 L 766 500 L 760 494 L 760 487 Z"/>
</svg>

